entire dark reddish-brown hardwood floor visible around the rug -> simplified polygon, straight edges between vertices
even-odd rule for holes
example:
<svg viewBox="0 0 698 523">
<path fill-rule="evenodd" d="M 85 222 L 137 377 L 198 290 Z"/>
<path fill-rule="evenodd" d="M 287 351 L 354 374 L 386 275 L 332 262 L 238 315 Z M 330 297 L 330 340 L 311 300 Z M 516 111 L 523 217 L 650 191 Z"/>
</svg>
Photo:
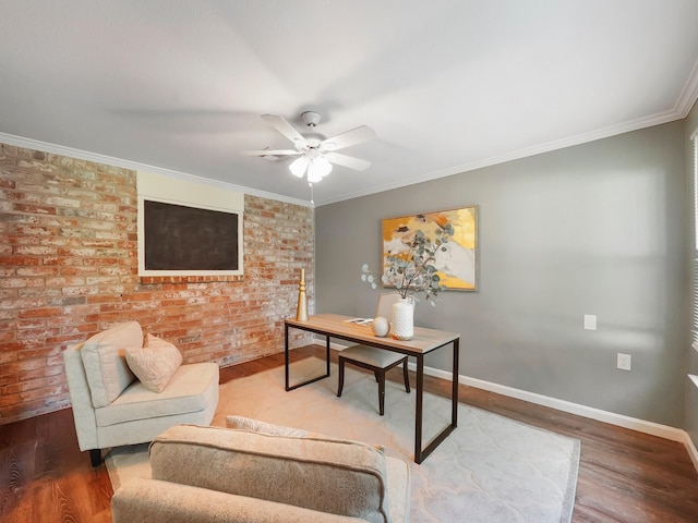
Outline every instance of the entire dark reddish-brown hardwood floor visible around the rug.
<svg viewBox="0 0 698 523">
<path fill-rule="evenodd" d="M 282 364 L 276 354 L 224 368 L 220 380 Z M 389 376 L 401 380 L 399 369 Z M 426 377 L 425 389 L 447 396 L 449 384 Z M 573 522 L 698 522 L 698 473 L 682 443 L 470 387 L 460 401 L 581 441 Z M 105 465 L 79 451 L 70 409 L 0 426 L 1 522 L 110 522 L 112 494 Z"/>
</svg>

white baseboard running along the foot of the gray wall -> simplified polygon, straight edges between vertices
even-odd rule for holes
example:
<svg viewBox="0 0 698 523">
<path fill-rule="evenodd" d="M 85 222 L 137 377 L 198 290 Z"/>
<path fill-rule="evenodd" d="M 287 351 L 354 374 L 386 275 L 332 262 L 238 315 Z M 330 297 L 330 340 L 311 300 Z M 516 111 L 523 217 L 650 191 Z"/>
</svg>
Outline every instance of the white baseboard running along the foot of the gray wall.
<svg viewBox="0 0 698 523">
<path fill-rule="evenodd" d="M 315 343 L 321 344 L 318 341 Z M 322 343 L 324 345 L 324 343 Z M 346 349 L 345 345 L 339 343 L 330 343 L 332 349 L 341 351 Z M 411 370 L 416 369 L 413 363 L 409 364 Z M 424 367 L 424 374 L 434 376 L 436 378 L 452 380 L 452 374 L 447 370 L 442 370 L 434 367 Z M 616 414 L 614 412 L 602 411 L 592 406 L 580 405 L 578 403 L 571 403 L 565 400 L 557 400 L 547 396 L 537 394 L 534 392 L 528 392 L 526 390 L 515 389 L 505 385 L 493 384 L 478 378 L 471 378 L 469 376 L 458 376 L 458 382 L 467 385 L 469 387 L 476 387 L 478 389 L 488 390 L 497 394 L 506 396 L 508 398 L 516 398 L 517 400 L 528 401 L 535 403 L 537 405 L 547 406 L 562 412 L 568 412 L 578 416 L 588 417 L 590 419 L 597 419 L 598 422 L 609 423 L 618 427 L 629 428 L 637 430 L 638 433 L 645 433 L 660 438 L 669 439 L 671 441 L 678 441 L 684 443 L 686 451 L 694 463 L 694 466 L 698 471 L 698 449 L 694 445 L 693 440 L 688 436 L 686 430 L 676 427 L 670 427 L 667 425 L 661 425 L 654 422 L 648 422 L 646 419 L 638 419 L 636 417 L 626 416 L 623 414 Z"/>
</svg>

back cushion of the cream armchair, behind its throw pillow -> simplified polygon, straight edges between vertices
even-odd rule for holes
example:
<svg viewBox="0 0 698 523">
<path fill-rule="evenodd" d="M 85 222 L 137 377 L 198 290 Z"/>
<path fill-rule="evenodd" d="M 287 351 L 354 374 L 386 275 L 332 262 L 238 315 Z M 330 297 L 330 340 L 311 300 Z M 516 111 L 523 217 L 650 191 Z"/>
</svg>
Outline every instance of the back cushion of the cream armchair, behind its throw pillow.
<svg viewBox="0 0 698 523">
<path fill-rule="evenodd" d="M 127 346 L 143 346 L 137 321 L 115 325 L 83 344 L 81 356 L 95 409 L 110 404 L 135 379 L 127 364 Z"/>
</svg>

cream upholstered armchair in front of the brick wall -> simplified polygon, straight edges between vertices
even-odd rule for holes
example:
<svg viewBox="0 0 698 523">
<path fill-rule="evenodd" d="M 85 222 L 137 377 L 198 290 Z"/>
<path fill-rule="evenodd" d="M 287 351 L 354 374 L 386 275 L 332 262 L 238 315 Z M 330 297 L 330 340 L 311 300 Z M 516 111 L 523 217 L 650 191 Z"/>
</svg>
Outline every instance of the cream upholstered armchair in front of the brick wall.
<svg viewBox="0 0 698 523">
<path fill-rule="evenodd" d="M 144 346 L 148 338 L 153 346 Z M 129 366 L 127 351 L 146 356 L 133 358 L 145 381 Z M 152 441 L 178 423 L 210 423 L 218 365 L 181 361 L 173 345 L 144 337 L 137 321 L 115 325 L 63 352 L 77 442 L 94 466 L 101 462 L 100 449 Z"/>
</svg>

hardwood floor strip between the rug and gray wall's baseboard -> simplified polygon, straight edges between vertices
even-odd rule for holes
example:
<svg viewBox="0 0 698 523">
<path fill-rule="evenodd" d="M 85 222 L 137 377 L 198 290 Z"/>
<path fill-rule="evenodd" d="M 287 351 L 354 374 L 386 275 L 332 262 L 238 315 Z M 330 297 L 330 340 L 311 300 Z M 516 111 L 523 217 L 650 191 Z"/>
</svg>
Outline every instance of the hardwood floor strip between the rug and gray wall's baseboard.
<svg viewBox="0 0 698 523">
<path fill-rule="evenodd" d="M 426 381 L 448 396 L 449 384 Z M 698 522 L 698 473 L 682 443 L 472 387 L 459 399 L 581 441 L 574 523 Z"/>
</svg>

